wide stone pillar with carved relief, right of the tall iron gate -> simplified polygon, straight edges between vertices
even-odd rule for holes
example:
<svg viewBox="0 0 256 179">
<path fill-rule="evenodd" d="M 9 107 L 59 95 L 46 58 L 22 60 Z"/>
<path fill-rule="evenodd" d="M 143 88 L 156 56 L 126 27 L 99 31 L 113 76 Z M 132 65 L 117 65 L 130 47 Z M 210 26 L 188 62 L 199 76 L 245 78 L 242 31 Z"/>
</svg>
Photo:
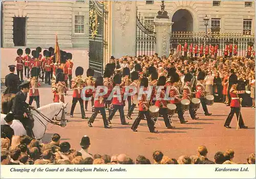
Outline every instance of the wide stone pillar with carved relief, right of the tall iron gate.
<svg viewBox="0 0 256 179">
<path fill-rule="evenodd" d="M 112 2 L 111 52 L 115 58 L 136 55 L 136 1 Z"/>
</svg>

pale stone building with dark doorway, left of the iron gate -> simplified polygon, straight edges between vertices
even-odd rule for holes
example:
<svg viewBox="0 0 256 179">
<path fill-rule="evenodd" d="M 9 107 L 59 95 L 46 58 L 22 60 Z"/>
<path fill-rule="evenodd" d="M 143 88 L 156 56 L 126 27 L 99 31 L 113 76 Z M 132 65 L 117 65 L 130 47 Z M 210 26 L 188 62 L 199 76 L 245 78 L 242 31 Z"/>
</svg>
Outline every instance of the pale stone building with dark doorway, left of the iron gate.
<svg viewBox="0 0 256 179">
<path fill-rule="evenodd" d="M 88 48 L 88 1 L 2 1 L 1 46 Z"/>
</svg>

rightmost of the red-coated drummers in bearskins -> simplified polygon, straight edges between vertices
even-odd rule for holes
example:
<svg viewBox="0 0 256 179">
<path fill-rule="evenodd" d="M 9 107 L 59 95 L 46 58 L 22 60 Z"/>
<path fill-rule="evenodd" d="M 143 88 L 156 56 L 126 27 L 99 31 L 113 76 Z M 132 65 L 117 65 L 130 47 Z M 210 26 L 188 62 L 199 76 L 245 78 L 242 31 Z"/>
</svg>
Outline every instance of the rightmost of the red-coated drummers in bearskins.
<svg viewBox="0 0 256 179">
<path fill-rule="evenodd" d="M 206 98 L 205 98 L 206 91 L 203 85 L 204 76 L 205 76 L 205 73 L 203 71 L 199 71 L 197 76 L 198 83 L 197 83 L 196 98 L 200 99 L 205 116 L 210 116 L 211 113 L 208 112 L 208 109 L 206 106 Z"/>
</svg>

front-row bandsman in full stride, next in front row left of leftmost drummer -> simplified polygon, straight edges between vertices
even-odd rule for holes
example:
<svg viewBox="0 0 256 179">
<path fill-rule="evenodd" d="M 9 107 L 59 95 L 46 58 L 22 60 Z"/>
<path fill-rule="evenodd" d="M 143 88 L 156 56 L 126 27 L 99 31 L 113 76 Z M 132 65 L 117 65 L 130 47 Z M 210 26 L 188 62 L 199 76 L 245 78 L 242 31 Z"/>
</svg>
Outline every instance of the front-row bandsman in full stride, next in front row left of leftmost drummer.
<svg viewBox="0 0 256 179">
<path fill-rule="evenodd" d="M 116 74 L 114 76 L 113 82 L 114 82 L 114 86 L 120 87 L 120 84 L 122 83 L 121 75 L 120 74 Z M 121 124 L 122 125 L 127 125 L 127 124 L 129 124 L 129 122 L 125 121 L 124 111 L 123 111 L 124 102 L 122 100 L 123 99 L 123 92 L 124 91 L 120 91 L 120 92 L 121 92 L 121 94 L 118 94 L 118 91 L 116 91 L 114 93 L 115 95 L 121 95 L 121 100 L 120 100 L 120 97 L 113 97 L 113 100 L 112 100 L 113 110 L 111 111 L 111 113 L 109 115 L 108 121 L 111 124 L 111 120 L 112 120 L 112 118 L 114 117 L 115 113 L 118 110 L 119 114 L 120 114 Z"/>
</svg>

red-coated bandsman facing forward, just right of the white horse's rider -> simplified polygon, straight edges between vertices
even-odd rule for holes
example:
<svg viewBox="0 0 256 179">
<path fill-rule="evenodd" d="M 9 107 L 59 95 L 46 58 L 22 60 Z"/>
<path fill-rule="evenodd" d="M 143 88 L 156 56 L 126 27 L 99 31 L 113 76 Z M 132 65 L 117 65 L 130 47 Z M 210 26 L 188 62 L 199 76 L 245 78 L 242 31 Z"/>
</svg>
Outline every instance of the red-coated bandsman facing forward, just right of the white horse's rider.
<svg viewBox="0 0 256 179">
<path fill-rule="evenodd" d="M 29 105 L 32 105 L 33 100 L 35 100 L 36 108 L 40 108 L 38 87 L 41 86 L 41 79 L 38 79 L 39 72 L 40 71 L 38 67 L 33 67 L 31 69 L 31 78 L 28 80 L 30 82 Z"/>
</svg>

